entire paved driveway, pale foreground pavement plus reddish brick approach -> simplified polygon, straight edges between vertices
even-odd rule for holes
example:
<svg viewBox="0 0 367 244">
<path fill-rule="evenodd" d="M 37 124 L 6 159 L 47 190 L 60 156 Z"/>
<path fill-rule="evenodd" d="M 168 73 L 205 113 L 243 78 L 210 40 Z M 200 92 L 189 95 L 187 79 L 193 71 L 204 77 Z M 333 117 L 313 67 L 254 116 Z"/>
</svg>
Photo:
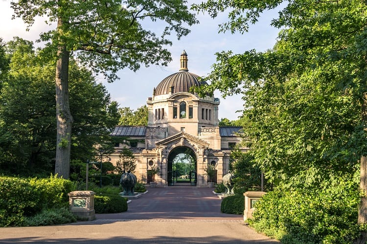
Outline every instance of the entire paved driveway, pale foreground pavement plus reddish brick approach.
<svg viewBox="0 0 367 244">
<path fill-rule="evenodd" d="M 242 215 L 220 212 L 210 188 L 148 188 L 128 211 L 97 214 L 91 222 L 0 228 L 0 243 L 81 244 L 278 244 L 243 223 Z"/>
</svg>

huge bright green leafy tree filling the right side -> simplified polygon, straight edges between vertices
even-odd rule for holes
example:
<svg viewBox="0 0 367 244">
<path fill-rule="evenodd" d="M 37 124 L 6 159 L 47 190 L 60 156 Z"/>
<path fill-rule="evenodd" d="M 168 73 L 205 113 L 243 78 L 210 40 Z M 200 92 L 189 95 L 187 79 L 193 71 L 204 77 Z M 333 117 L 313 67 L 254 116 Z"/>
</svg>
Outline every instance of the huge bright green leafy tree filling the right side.
<svg viewBox="0 0 367 244">
<path fill-rule="evenodd" d="M 244 32 L 263 11 L 280 4 L 284 8 L 272 25 L 284 29 L 274 49 L 218 53 L 205 92 L 246 92 L 254 160 L 273 180 L 281 172 L 280 180 L 303 177 L 312 184 L 333 174 L 352 178 L 360 167 L 358 223 L 366 224 L 366 2 L 209 0 L 194 8 L 212 17 L 230 9 L 220 30 Z M 266 155 L 269 160 L 262 161 Z M 357 242 L 366 241 L 363 232 Z"/>
</svg>

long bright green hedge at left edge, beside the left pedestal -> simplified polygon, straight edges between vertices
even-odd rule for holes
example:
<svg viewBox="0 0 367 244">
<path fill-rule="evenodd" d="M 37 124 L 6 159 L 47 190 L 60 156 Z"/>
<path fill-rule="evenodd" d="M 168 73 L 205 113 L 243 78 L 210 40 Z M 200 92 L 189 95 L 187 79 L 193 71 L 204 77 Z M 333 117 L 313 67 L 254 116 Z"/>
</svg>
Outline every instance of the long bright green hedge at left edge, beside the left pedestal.
<svg viewBox="0 0 367 244">
<path fill-rule="evenodd" d="M 22 226 L 43 209 L 68 206 L 74 184 L 66 179 L 0 177 L 0 227 Z"/>
</svg>

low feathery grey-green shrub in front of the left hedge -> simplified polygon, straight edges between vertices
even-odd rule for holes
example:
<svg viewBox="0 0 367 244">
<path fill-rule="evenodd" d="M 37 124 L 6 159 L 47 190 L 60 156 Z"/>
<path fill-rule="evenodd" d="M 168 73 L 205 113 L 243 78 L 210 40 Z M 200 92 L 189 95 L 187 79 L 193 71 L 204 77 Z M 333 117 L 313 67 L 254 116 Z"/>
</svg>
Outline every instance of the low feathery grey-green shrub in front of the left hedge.
<svg viewBox="0 0 367 244">
<path fill-rule="evenodd" d="M 41 226 L 76 222 L 76 217 L 67 208 L 44 209 L 40 213 L 26 217 L 24 226 Z"/>
</svg>

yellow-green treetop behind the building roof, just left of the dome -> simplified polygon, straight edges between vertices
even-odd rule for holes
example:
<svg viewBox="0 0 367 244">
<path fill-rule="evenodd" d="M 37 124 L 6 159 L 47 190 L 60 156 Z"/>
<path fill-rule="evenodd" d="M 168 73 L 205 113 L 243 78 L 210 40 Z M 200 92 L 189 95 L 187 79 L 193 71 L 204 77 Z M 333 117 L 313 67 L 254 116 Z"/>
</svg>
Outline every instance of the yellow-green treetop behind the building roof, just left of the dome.
<svg viewBox="0 0 367 244">
<path fill-rule="evenodd" d="M 119 125 L 147 125 L 148 124 L 148 107 L 141 106 L 137 111 L 131 110 L 129 107 L 119 109 L 120 120 Z"/>
</svg>

